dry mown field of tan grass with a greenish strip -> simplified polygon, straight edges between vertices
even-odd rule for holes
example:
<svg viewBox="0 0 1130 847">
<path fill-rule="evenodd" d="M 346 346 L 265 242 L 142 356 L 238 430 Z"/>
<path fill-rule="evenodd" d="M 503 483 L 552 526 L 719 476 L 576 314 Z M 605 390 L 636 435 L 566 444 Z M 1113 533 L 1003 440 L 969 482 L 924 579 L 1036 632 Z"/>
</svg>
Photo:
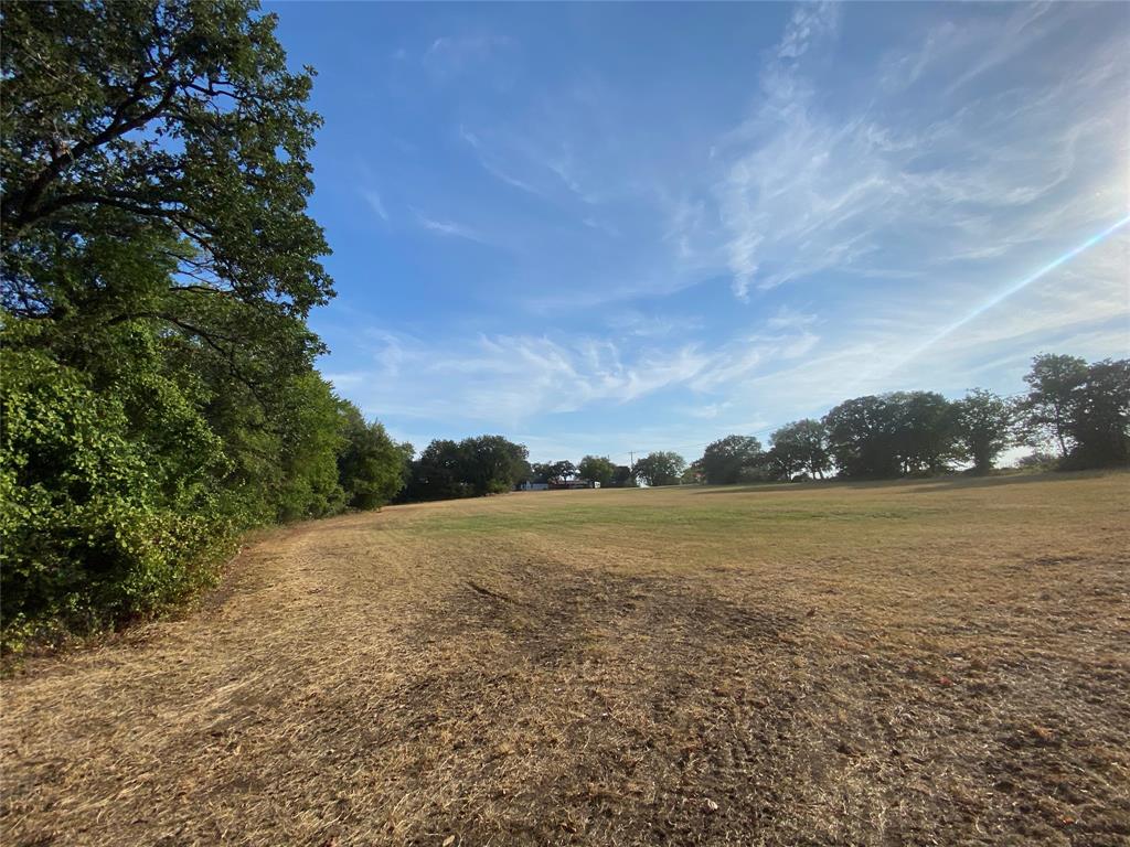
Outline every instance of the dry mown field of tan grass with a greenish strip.
<svg viewBox="0 0 1130 847">
<path fill-rule="evenodd" d="M 1125 845 L 1130 477 L 275 532 L 5 686 L 6 845 Z"/>
</svg>

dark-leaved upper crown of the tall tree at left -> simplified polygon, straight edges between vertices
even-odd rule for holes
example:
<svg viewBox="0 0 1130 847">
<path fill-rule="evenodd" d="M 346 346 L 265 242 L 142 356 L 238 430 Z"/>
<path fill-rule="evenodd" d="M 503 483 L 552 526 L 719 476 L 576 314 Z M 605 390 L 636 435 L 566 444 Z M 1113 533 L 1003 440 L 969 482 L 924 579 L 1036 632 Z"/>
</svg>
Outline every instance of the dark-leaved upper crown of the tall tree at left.
<svg viewBox="0 0 1130 847">
<path fill-rule="evenodd" d="M 297 315 L 330 296 L 325 242 L 305 211 L 320 122 L 305 106 L 311 71 L 287 69 L 275 17 L 257 8 L 5 3 L 10 312 L 64 313 L 98 280 L 59 262 L 138 234 L 147 247 L 164 236 L 183 295 Z"/>
</svg>

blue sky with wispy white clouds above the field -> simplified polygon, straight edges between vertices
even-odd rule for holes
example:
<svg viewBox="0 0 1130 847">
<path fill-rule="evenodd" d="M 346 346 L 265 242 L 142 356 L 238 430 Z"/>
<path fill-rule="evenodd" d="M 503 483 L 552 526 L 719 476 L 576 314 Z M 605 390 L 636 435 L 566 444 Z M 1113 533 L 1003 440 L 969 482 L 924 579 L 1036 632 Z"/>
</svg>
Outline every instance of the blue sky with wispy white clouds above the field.
<svg viewBox="0 0 1130 847">
<path fill-rule="evenodd" d="M 423 448 L 760 434 L 1130 352 L 1130 5 L 280 3 L 338 391 Z M 1037 279 L 1022 285 L 1033 276 Z"/>
</svg>

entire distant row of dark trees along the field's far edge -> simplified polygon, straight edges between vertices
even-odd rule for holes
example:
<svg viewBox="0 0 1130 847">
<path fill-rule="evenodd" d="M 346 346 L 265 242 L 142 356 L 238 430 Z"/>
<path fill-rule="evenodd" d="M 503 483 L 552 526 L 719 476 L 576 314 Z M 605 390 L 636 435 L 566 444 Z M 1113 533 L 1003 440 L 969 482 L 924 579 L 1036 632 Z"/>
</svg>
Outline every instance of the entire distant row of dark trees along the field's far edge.
<svg viewBox="0 0 1130 847">
<path fill-rule="evenodd" d="M 503 436 L 435 440 L 411 462 L 401 501 L 475 497 L 523 482 L 580 479 L 601 487 L 680 482 L 895 479 L 993 470 L 1016 446 L 1033 453 L 1022 464 L 1085 469 L 1130 461 L 1130 360 L 1087 364 L 1074 356 L 1041 355 L 1025 377 L 1026 395 L 1005 399 L 982 388 L 960 400 L 930 391 L 892 392 L 845 400 L 823 418 L 776 429 L 768 446 L 730 435 L 687 464 L 657 452 L 633 466 L 589 455 L 530 464 L 521 444 Z"/>
</svg>

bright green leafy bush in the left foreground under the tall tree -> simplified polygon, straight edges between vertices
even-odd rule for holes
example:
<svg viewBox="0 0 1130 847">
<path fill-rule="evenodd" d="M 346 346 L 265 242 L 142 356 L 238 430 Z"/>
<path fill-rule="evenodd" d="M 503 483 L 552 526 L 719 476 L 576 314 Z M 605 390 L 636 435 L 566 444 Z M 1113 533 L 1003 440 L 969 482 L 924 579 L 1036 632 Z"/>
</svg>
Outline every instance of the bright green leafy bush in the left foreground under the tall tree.
<svg viewBox="0 0 1130 847">
<path fill-rule="evenodd" d="M 221 498 L 131 438 L 121 394 L 92 391 L 87 376 L 42 352 L 5 353 L 0 614 L 9 648 L 36 631 L 87 632 L 183 599 L 211 578 L 217 541 L 231 538 Z M 215 436 L 195 435 L 183 452 L 205 468 L 209 453 L 221 460 Z"/>
</svg>

